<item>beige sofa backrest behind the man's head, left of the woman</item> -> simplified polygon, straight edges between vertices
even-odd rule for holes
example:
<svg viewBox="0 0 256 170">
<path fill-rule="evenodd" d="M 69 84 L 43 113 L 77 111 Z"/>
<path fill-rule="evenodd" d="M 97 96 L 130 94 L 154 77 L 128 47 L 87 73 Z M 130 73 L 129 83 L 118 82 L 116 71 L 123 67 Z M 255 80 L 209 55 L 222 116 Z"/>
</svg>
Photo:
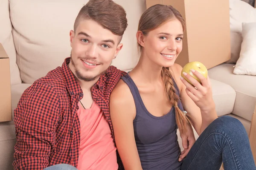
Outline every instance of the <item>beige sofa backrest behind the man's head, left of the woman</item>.
<svg viewBox="0 0 256 170">
<path fill-rule="evenodd" d="M 112 65 L 134 68 L 138 61 L 136 32 L 145 0 L 114 0 L 125 8 L 128 28 Z M 32 84 L 70 56 L 69 32 L 88 0 L 1 0 L 0 42 L 10 58 L 11 84 Z"/>
</svg>

